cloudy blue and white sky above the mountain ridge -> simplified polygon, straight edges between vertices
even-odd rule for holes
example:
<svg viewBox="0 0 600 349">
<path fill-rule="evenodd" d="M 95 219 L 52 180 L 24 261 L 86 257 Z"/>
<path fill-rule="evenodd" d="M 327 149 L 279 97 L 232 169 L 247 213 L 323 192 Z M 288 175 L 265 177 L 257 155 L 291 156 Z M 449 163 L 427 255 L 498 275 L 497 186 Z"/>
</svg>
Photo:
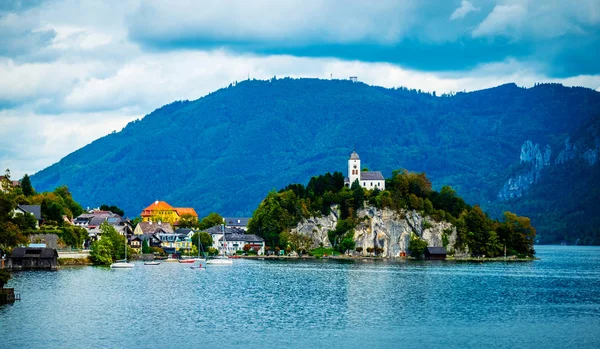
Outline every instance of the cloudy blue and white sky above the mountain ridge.
<svg viewBox="0 0 600 349">
<path fill-rule="evenodd" d="M 600 91 L 599 62 L 600 0 L 0 1 L 0 168 L 248 77 Z"/>
</svg>

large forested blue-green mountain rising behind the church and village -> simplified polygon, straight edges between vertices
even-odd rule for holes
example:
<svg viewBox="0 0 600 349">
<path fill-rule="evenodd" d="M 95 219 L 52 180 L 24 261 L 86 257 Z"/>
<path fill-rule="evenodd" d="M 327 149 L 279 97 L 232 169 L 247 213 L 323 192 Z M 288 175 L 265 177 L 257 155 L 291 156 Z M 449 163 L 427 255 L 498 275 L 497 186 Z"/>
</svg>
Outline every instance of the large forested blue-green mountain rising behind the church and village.
<svg viewBox="0 0 600 349">
<path fill-rule="evenodd" d="M 560 229 L 573 232 L 588 228 L 572 212 L 597 216 L 589 195 L 571 192 L 566 200 L 564 193 L 582 183 L 598 189 L 600 165 L 585 156 L 597 155 L 599 118 L 600 93 L 559 84 L 435 96 L 346 80 L 249 80 L 165 105 L 31 181 L 38 190 L 66 184 L 82 205 L 117 205 L 130 216 L 157 199 L 201 216 L 250 215 L 269 190 L 345 173 L 355 148 L 363 166 L 386 177 L 399 168 L 424 171 L 436 188 L 451 185 L 494 215 L 528 212 L 543 227 L 540 236 L 554 242 L 564 234 L 539 213 L 552 210 Z M 577 149 L 590 152 L 569 155 L 568 144 L 579 139 L 586 141 Z M 532 164 L 538 168 L 527 177 Z M 549 195 L 544 188 L 561 168 L 571 172 L 560 177 L 565 191 Z M 527 178 L 510 190 L 520 175 Z"/>
</svg>

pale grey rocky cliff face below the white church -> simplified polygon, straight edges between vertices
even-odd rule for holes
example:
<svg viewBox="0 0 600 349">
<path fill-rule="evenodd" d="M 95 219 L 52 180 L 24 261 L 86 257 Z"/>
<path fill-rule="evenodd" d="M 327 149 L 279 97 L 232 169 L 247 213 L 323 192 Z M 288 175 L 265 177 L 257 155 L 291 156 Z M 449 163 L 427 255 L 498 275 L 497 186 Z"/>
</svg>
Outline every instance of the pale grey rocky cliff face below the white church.
<svg viewBox="0 0 600 349">
<path fill-rule="evenodd" d="M 402 252 L 407 252 L 408 243 L 414 233 L 426 240 L 429 246 L 445 246 L 449 253 L 455 255 L 466 254 L 458 250 L 456 245 L 456 228 L 448 222 L 436 222 L 431 218 L 423 217 L 413 210 L 404 210 L 400 213 L 390 209 L 377 209 L 367 207 L 358 211 L 362 222 L 354 230 L 356 247 L 362 247 L 363 255 L 367 255 L 367 248 L 383 248 L 384 257 L 399 257 Z M 328 216 L 313 217 L 298 223 L 292 233 L 308 235 L 313 240 L 313 247 L 323 244 L 330 247 L 327 237 L 329 230 L 334 230 L 338 221 L 337 207 L 332 207 Z"/>
</svg>

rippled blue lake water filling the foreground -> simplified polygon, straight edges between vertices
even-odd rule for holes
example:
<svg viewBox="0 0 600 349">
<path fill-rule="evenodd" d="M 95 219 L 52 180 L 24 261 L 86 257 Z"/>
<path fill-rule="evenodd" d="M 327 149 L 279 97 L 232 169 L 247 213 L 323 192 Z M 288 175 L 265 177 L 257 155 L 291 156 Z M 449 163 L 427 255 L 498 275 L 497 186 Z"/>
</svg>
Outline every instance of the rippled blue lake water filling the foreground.
<svg viewBox="0 0 600 349">
<path fill-rule="evenodd" d="M 19 272 L 0 348 L 599 348 L 600 247 L 536 250 L 514 263 Z"/>
</svg>

